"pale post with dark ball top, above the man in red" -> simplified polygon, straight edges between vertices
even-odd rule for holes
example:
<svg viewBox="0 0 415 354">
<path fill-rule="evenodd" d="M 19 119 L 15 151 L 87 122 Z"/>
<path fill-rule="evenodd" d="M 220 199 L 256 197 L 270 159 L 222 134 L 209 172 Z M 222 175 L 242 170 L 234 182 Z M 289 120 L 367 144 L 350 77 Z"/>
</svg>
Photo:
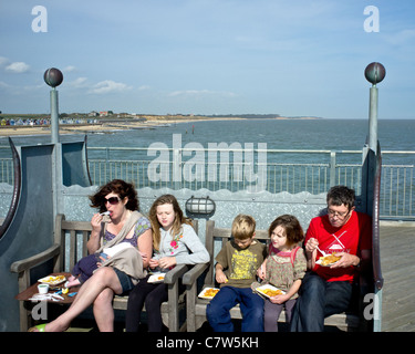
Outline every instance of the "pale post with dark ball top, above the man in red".
<svg viewBox="0 0 415 354">
<path fill-rule="evenodd" d="M 381 63 L 371 63 L 364 71 L 364 76 L 372 83 L 369 103 L 369 148 L 377 155 L 377 87 L 376 84 L 385 79 L 386 70 Z"/>
</svg>

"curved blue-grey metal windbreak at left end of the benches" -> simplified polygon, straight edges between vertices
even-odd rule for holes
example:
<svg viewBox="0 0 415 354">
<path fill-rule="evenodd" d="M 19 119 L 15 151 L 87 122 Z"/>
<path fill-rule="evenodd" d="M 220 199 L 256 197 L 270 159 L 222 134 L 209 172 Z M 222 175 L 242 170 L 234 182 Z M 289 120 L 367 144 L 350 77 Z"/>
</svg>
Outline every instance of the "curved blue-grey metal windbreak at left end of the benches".
<svg viewBox="0 0 415 354">
<path fill-rule="evenodd" d="M 56 207 L 62 186 L 90 186 L 85 142 L 18 146 L 9 138 L 14 167 L 11 205 L 0 227 L 0 332 L 18 331 L 18 274 L 11 264 L 41 253 L 53 243 Z M 52 271 L 51 263 L 33 268 L 27 285 Z"/>
</svg>

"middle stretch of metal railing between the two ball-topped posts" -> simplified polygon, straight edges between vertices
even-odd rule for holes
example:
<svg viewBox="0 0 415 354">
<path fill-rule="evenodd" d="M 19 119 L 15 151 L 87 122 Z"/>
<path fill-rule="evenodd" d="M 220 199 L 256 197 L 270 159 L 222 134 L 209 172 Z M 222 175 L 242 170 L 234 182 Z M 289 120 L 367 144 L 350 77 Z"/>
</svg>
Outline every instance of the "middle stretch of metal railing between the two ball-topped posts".
<svg viewBox="0 0 415 354">
<path fill-rule="evenodd" d="M 128 159 L 125 159 L 126 150 L 129 150 Z M 354 155 L 353 164 L 339 163 L 338 156 L 346 154 Z M 90 147 L 89 167 L 97 185 L 124 178 L 133 180 L 137 188 L 320 194 L 334 184 L 346 184 L 360 192 L 361 156 L 361 150 L 166 148 L 149 152 Z"/>
</svg>

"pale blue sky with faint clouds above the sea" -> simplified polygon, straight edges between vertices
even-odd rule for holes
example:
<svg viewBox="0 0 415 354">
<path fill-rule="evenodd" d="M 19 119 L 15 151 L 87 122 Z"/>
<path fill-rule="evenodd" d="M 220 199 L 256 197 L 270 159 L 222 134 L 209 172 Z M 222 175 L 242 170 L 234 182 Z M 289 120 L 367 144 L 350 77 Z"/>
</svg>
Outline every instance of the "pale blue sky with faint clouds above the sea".
<svg viewBox="0 0 415 354">
<path fill-rule="evenodd" d="M 0 0 L 0 111 L 48 113 L 58 67 L 61 113 L 367 118 L 381 62 L 378 117 L 415 118 L 414 15 L 413 0 Z"/>
</svg>

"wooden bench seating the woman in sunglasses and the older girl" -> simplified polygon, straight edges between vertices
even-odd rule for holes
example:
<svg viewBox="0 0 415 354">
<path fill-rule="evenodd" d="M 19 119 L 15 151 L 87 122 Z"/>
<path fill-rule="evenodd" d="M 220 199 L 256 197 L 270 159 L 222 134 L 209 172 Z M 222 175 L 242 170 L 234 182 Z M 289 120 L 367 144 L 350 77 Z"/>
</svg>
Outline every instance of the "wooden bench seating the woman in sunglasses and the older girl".
<svg viewBox="0 0 415 354">
<path fill-rule="evenodd" d="M 194 228 L 197 232 L 197 221 L 194 221 Z M 65 264 L 69 264 L 69 270 L 71 271 L 77 261 L 77 238 L 82 238 L 81 253 L 84 257 L 87 253 L 86 242 L 91 231 L 92 227 L 89 221 L 70 221 L 65 220 L 63 215 L 58 215 L 55 219 L 54 243 L 48 250 L 24 260 L 15 261 L 10 267 L 11 272 L 19 275 L 19 292 L 23 292 L 31 285 L 30 272 L 39 264 L 52 260 L 53 270 L 51 272 L 64 272 Z M 66 236 L 69 240 L 66 240 Z M 69 250 L 66 250 L 66 243 L 69 244 Z M 162 316 L 164 324 L 170 332 L 184 331 L 186 329 L 186 323 L 181 327 L 179 326 L 179 312 L 185 310 L 185 302 L 181 299 L 183 296 L 179 299 L 178 279 L 188 270 L 187 266 L 176 266 L 166 274 L 164 280 L 168 285 L 168 302 L 162 304 Z M 128 296 L 115 295 L 113 301 L 114 310 L 126 310 L 127 301 Z M 27 310 L 24 303 L 20 302 L 21 331 L 28 331 L 31 320 L 30 310 Z"/>
</svg>

